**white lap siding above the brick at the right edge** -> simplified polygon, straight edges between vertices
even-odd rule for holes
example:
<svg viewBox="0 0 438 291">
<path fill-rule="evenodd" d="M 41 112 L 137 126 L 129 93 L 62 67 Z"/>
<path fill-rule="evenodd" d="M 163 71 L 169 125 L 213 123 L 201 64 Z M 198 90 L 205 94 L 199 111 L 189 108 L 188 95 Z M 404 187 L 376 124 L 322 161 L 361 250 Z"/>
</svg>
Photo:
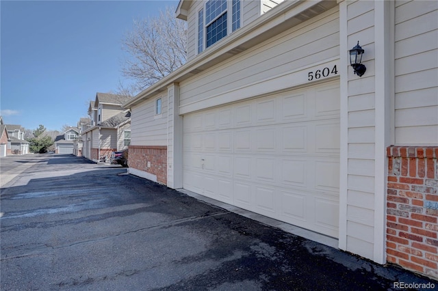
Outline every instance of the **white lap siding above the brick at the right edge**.
<svg viewBox="0 0 438 291">
<path fill-rule="evenodd" d="M 396 144 L 437 145 L 438 1 L 396 1 L 395 19 Z"/>
</svg>

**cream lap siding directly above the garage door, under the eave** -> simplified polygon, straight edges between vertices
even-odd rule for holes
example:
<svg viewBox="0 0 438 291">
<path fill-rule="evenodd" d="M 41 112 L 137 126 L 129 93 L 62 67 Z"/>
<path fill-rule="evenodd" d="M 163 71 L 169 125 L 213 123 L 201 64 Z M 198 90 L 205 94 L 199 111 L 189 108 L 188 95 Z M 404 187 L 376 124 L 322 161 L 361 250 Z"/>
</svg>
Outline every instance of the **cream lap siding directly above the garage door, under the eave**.
<svg viewBox="0 0 438 291">
<path fill-rule="evenodd" d="M 257 83 L 339 55 L 337 8 L 181 83 L 180 105 Z"/>
</svg>

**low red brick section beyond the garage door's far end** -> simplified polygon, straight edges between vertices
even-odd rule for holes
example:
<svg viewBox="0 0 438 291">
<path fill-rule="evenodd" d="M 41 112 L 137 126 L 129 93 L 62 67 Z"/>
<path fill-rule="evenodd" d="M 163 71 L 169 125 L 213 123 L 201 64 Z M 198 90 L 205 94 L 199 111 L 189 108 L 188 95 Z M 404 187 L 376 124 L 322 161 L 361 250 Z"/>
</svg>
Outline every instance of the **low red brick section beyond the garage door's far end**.
<svg viewBox="0 0 438 291">
<path fill-rule="evenodd" d="M 130 168 L 157 176 L 159 183 L 167 184 L 167 146 L 129 146 L 128 164 Z"/>
</svg>

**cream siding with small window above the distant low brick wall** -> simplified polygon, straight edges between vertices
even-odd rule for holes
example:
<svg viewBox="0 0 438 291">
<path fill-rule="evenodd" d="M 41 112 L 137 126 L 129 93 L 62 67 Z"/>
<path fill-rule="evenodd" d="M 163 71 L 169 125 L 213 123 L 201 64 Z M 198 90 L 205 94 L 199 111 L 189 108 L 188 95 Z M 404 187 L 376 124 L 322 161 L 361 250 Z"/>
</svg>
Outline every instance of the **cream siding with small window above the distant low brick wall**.
<svg viewBox="0 0 438 291">
<path fill-rule="evenodd" d="M 162 117 L 156 118 L 157 97 L 145 100 L 131 108 L 131 146 L 166 146 L 167 98 L 162 98 Z"/>
</svg>

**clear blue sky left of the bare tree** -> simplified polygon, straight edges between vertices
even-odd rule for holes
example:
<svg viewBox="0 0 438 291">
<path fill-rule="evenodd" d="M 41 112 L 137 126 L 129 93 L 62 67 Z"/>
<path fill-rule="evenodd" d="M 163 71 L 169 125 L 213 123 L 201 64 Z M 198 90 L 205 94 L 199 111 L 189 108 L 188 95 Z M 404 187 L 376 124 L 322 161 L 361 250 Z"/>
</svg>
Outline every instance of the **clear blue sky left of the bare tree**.
<svg viewBox="0 0 438 291">
<path fill-rule="evenodd" d="M 87 117 L 96 92 L 114 92 L 134 19 L 179 1 L 0 1 L 5 124 L 60 130 Z"/>
</svg>

